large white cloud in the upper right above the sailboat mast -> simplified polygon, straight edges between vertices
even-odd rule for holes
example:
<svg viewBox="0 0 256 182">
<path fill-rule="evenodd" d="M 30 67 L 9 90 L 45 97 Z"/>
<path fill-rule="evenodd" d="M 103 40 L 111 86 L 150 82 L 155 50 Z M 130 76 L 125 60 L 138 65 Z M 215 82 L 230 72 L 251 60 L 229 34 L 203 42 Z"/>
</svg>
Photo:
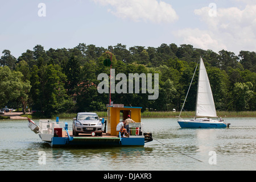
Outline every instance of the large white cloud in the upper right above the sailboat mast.
<svg viewBox="0 0 256 182">
<path fill-rule="evenodd" d="M 247 5 L 243 10 L 217 7 L 217 16 L 210 16 L 209 11 L 210 7 L 194 11 L 201 22 L 207 24 L 207 30 L 187 28 L 177 36 L 183 38 L 184 43 L 215 52 L 226 49 L 238 54 L 241 50 L 256 50 L 256 5 Z"/>
</svg>

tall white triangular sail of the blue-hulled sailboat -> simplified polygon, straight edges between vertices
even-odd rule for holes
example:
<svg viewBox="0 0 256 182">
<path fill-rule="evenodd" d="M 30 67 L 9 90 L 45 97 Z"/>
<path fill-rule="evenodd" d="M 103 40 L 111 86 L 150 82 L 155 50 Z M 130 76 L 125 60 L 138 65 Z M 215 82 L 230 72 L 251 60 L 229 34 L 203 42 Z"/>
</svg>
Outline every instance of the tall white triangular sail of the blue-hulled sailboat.
<svg viewBox="0 0 256 182">
<path fill-rule="evenodd" d="M 210 88 L 207 71 L 201 57 L 196 98 L 196 117 L 217 117 L 212 89 Z"/>
</svg>

